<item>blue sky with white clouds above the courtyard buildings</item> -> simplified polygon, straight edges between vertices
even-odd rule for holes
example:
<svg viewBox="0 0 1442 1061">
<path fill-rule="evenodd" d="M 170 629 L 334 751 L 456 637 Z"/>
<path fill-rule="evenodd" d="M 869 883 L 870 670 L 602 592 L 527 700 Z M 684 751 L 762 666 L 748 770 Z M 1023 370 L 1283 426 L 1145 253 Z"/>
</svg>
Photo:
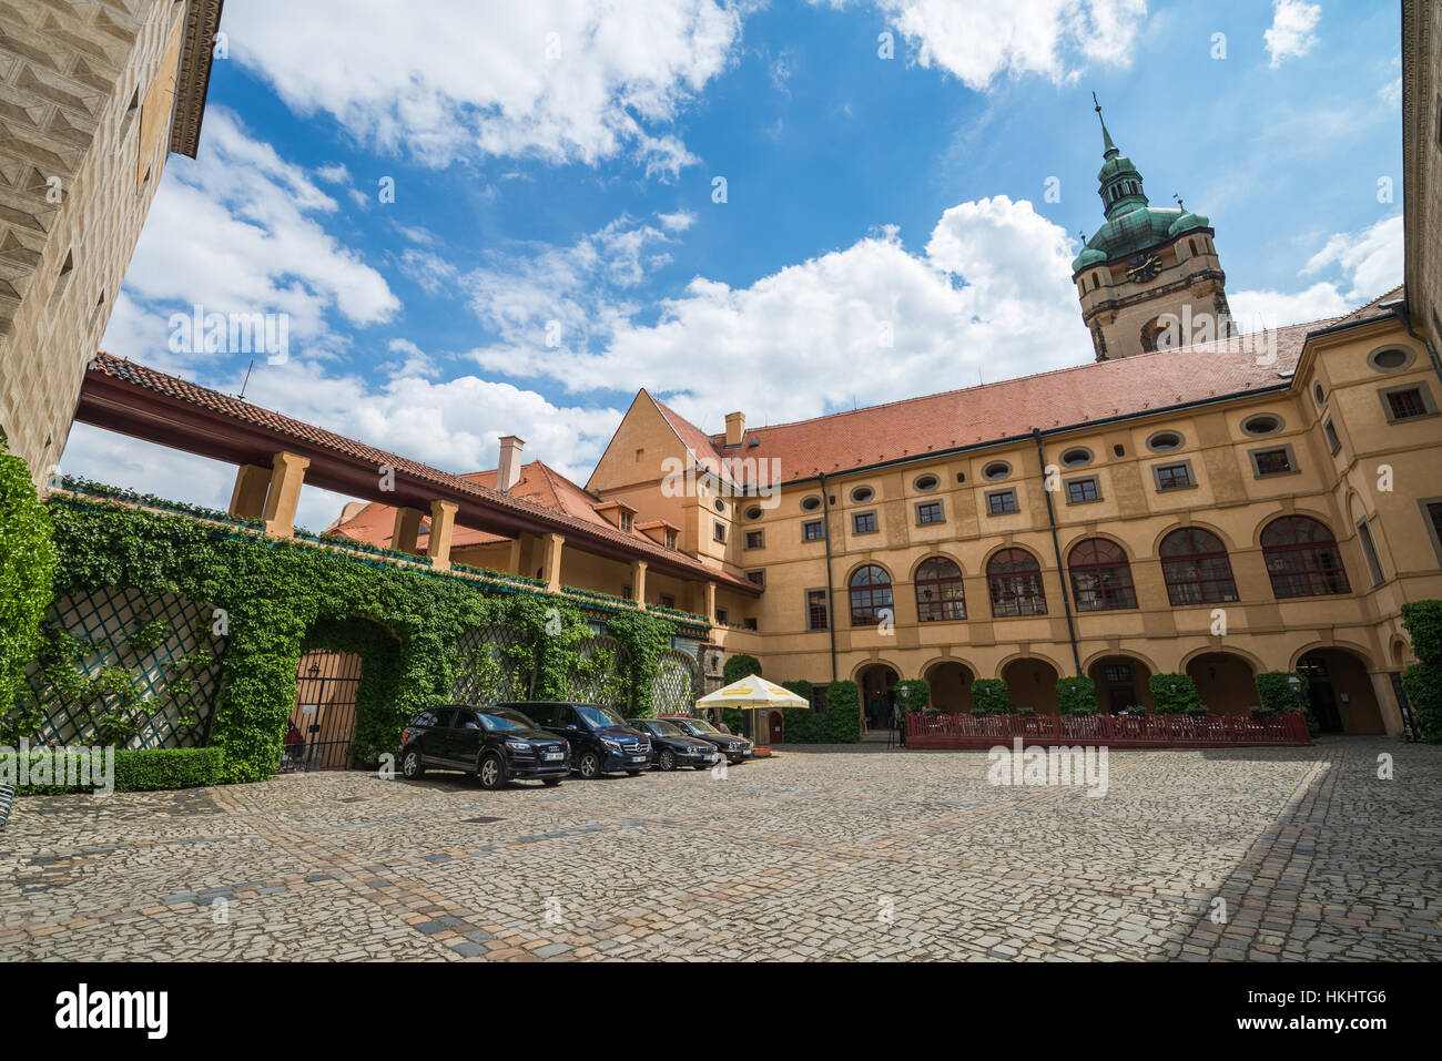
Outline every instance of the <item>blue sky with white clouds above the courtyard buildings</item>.
<svg viewBox="0 0 1442 1061">
<path fill-rule="evenodd" d="M 1397 4 L 235 0 L 221 30 L 102 349 L 450 471 L 516 434 L 584 483 L 640 388 L 721 431 L 1092 360 L 1093 92 L 1152 203 L 1211 219 L 1246 330 L 1402 283 Z M 275 314 L 284 358 L 186 342 L 195 307 Z M 216 507 L 235 474 L 82 424 L 62 470 Z"/>
</svg>

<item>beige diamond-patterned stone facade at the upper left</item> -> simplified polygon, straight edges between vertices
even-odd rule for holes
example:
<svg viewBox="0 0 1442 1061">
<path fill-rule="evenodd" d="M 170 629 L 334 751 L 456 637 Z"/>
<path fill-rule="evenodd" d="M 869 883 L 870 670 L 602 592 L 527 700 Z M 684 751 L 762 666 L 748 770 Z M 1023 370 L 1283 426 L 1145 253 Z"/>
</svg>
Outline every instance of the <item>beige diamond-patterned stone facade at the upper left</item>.
<svg viewBox="0 0 1442 1061">
<path fill-rule="evenodd" d="M 195 151 L 219 14 L 221 0 L 0 1 L 0 432 L 36 481 L 166 159 Z"/>
</svg>

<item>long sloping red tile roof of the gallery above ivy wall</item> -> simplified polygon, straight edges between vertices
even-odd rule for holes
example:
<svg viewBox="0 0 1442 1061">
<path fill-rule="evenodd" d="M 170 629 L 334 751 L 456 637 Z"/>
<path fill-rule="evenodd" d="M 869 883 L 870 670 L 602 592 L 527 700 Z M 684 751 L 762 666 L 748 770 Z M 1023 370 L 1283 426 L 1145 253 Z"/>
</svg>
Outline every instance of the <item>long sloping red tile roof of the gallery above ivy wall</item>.
<svg viewBox="0 0 1442 1061">
<path fill-rule="evenodd" d="M 747 580 L 735 578 L 734 575 L 702 564 L 699 559 L 689 556 L 688 554 L 658 545 L 645 535 L 624 533 L 619 528 L 607 523 L 594 512 L 588 516 L 578 515 L 575 512 L 577 496 L 590 497 L 590 494 L 585 494 L 581 487 L 575 486 L 562 476 L 558 476 L 545 466 L 541 466 L 541 471 L 548 480 L 547 489 L 549 489 L 557 497 L 557 505 L 547 505 L 539 499 L 500 493 L 480 481 L 476 481 L 476 479 L 456 476 L 448 471 L 430 467 L 428 464 L 421 464 L 420 461 L 401 457 L 399 454 L 378 450 L 373 445 L 366 445 L 365 443 L 353 438 L 337 435 L 313 424 L 286 417 L 280 412 L 273 412 L 271 409 L 264 409 L 239 398 L 224 395 L 218 391 L 190 383 L 177 376 L 156 372 L 154 369 L 149 369 L 143 365 L 137 365 L 104 352 L 97 353 L 89 363 L 87 382 L 82 385 L 82 404 L 85 399 L 85 389 L 92 386 L 91 381 L 95 378 L 117 381 L 124 385 L 124 389 L 127 391 L 146 391 L 176 402 L 206 409 L 235 424 L 264 431 L 267 435 L 303 441 L 314 450 L 324 450 L 340 458 L 360 461 L 372 469 L 389 464 L 395 469 L 398 476 L 404 474 L 412 480 L 441 487 L 437 496 L 443 499 L 447 496 L 461 496 L 482 509 L 509 510 L 512 513 L 531 518 L 544 525 L 547 529 L 554 529 L 557 533 L 568 535 L 568 542 L 583 551 L 587 539 L 601 539 L 610 542 L 611 546 L 620 546 L 627 555 L 633 555 L 636 559 L 650 561 L 662 569 L 673 568 L 684 571 L 684 577 L 695 578 L 698 581 L 720 582 L 753 595 L 756 592 L 756 585 Z M 144 437 L 143 432 L 137 431 L 137 434 Z M 386 528 L 386 533 L 389 533 L 389 528 Z"/>
</svg>

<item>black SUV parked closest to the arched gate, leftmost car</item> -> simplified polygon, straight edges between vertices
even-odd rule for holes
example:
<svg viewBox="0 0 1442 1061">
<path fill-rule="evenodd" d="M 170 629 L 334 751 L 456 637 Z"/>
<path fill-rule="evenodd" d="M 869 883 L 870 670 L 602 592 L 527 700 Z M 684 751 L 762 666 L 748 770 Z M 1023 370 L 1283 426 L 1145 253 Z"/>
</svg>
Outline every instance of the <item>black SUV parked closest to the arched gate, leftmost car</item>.
<svg viewBox="0 0 1442 1061">
<path fill-rule="evenodd" d="M 423 711 L 401 731 L 395 758 L 408 778 L 420 777 L 427 767 L 464 770 L 482 789 L 499 789 L 522 777 L 559 784 L 571 773 L 570 745 L 508 708 Z"/>
</svg>

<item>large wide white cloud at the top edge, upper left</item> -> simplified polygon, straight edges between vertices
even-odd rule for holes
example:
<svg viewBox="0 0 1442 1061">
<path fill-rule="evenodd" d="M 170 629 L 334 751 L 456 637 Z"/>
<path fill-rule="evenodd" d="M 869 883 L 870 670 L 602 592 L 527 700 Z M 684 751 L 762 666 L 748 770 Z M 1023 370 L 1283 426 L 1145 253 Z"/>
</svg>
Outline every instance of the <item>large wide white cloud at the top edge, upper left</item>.
<svg viewBox="0 0 1442 1061">
<path fill-rule="evenodd" d="M 291 110 L 327 112 L 430 166 L 630 154 L 673 177 L 692 157 L 665 130 L 741 35 L 740 9 L 718 0 L 348 0 L 345 17 L 293 0 L 232 9 L 232 53 Z"/>
</svg>

